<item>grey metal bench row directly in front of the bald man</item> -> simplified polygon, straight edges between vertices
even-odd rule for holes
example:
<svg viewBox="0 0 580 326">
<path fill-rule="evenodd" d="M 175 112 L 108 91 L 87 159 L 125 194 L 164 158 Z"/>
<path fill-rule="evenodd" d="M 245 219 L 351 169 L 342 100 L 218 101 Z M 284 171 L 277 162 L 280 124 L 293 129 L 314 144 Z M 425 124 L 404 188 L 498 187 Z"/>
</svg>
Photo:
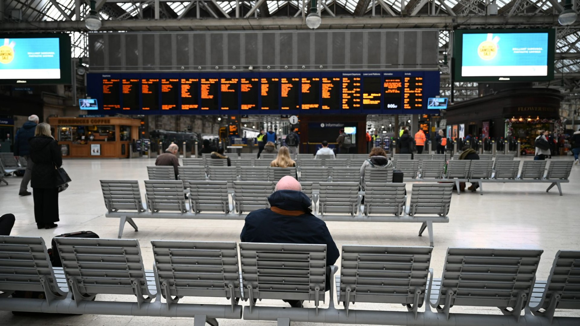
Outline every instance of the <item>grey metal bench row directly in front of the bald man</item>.
<svg viewBox="0 0 580 326">
<path fill-rule="evenodd" d="M 182 181 L 145 180 L 143 201 L 137 180 L 101 180 L 107 218 L 118 218 L 121 238 L 125 223 L 137 231 L 136 218 L 236 219 L 269 207 L 267 197 L 274 182 L 234 181 L 229 204 L 225 181 L 190 181 L 189 198 Z M 321 182 L 318 194 L 312 183 L 302 182 L 303 192 L 313 200 L 312 209 L 327 221 L 416 222 L 422 223 L 419 236 L 427 229 L 433 245 L 433 223 L 449 222 L 452 184 L 413 184 L 407 205 L 404 183 L 367 183 L 365 202 L 355 182 Z"/>
</svg>

